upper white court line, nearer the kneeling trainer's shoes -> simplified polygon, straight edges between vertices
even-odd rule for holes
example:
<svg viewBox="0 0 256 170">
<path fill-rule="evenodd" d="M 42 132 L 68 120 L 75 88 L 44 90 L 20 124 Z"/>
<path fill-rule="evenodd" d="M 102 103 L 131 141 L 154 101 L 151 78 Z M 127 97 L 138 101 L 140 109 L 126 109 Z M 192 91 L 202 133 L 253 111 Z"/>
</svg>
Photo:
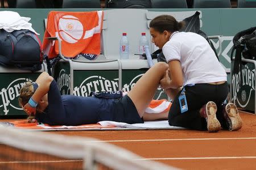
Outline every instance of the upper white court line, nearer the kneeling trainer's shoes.
<svg viewBox="0 0 256 170">
<path fill-rule="evenodd" d="M 90 142 L 210 141 L 210 140 L 250 140 L 250 139 L 256 139 L 256 137 L 251 137 L 251 138 L 141 139 L 141 140 L 89 141 L 88 143 L 90 143 Z"/>
</svg>

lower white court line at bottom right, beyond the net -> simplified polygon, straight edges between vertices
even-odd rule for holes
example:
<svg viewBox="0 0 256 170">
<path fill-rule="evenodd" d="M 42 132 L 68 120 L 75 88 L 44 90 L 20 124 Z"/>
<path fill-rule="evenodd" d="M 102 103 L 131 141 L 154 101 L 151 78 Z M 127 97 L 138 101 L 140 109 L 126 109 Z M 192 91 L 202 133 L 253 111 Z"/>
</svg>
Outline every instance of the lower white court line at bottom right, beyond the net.
<svg viewBox="0 0 256 170">
<path fill-rule="evenodd" d="M 191 159 L 256 159 L 256 156 L 220 156 L 220 157 L 191 157 L 191 158 L 142 158 L 135 160 L 191 160 Z"/>
</svg>

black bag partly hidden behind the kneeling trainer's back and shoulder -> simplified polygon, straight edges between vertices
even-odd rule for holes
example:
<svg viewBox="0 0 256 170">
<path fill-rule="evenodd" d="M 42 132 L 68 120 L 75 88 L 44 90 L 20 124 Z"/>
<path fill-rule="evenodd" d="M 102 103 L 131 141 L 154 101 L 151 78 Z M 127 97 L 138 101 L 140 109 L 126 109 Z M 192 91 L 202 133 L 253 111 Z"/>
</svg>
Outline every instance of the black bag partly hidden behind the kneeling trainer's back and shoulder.
<svg viewBox="0 0 256 170">
<path fill-rule="evenodd" d="M 183 21 L 185 22 L 185 27 L 181 28 L 179 31 L 183 31 L 183 32 L 194 32 L 197 33 L 201 36 L 203 36 L 210 44 L 210 47 L 213 49 L 215 56 L 218 59 L 218 54 L 216 52 L 216 49 L 214 48 L 212 42 L 208 39 L 206 33 L 204 33 L 203 31 L 200 30 L 200 19 L 199 19 L 199 15 L 200 12 L 196 11 L 196 13 L 192 16 L 189 16 L 188 18 L 183 19 Z M 166 62 L 166 58 L 163 55 L 163 52 L 161 49 L 156 50 L 153 54 L 158 54 L 158 62 L 162 61 L 162 62 Z M 218 59 L 219 60 L 219 59 Z"/>
</svg>

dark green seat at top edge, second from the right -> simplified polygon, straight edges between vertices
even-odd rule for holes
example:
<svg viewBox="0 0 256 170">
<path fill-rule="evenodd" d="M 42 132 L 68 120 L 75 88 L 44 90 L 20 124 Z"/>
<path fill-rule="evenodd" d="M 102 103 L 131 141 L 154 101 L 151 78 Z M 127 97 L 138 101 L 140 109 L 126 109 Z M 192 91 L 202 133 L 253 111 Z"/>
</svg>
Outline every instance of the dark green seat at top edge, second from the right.
<svg viewBox="0 0 256 170">
<path fill-rule="evenodd" d="M 230 0 L 193 0 L 193 8 L 231 8 Z"/>
</svg>

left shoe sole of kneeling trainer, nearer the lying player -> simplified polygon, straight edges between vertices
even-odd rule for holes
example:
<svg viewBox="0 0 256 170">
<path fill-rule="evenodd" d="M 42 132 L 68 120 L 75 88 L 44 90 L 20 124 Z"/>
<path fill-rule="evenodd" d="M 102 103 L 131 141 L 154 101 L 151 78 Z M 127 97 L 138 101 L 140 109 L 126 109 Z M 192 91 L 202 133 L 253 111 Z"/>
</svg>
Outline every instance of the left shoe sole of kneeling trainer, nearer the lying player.
<svg viewBox="0 0 256 170">
<path fill-rule="evenodd" d="M 209 132 L 221 130 L 221 124 L 216 117 L 217 105 L 213 101 L 209 101 L 207 104 L 205 104 L 201 109 L 201 112 L 203 112 L 201 115 L 205 115 L 207 129 Z"/>
</svg>

